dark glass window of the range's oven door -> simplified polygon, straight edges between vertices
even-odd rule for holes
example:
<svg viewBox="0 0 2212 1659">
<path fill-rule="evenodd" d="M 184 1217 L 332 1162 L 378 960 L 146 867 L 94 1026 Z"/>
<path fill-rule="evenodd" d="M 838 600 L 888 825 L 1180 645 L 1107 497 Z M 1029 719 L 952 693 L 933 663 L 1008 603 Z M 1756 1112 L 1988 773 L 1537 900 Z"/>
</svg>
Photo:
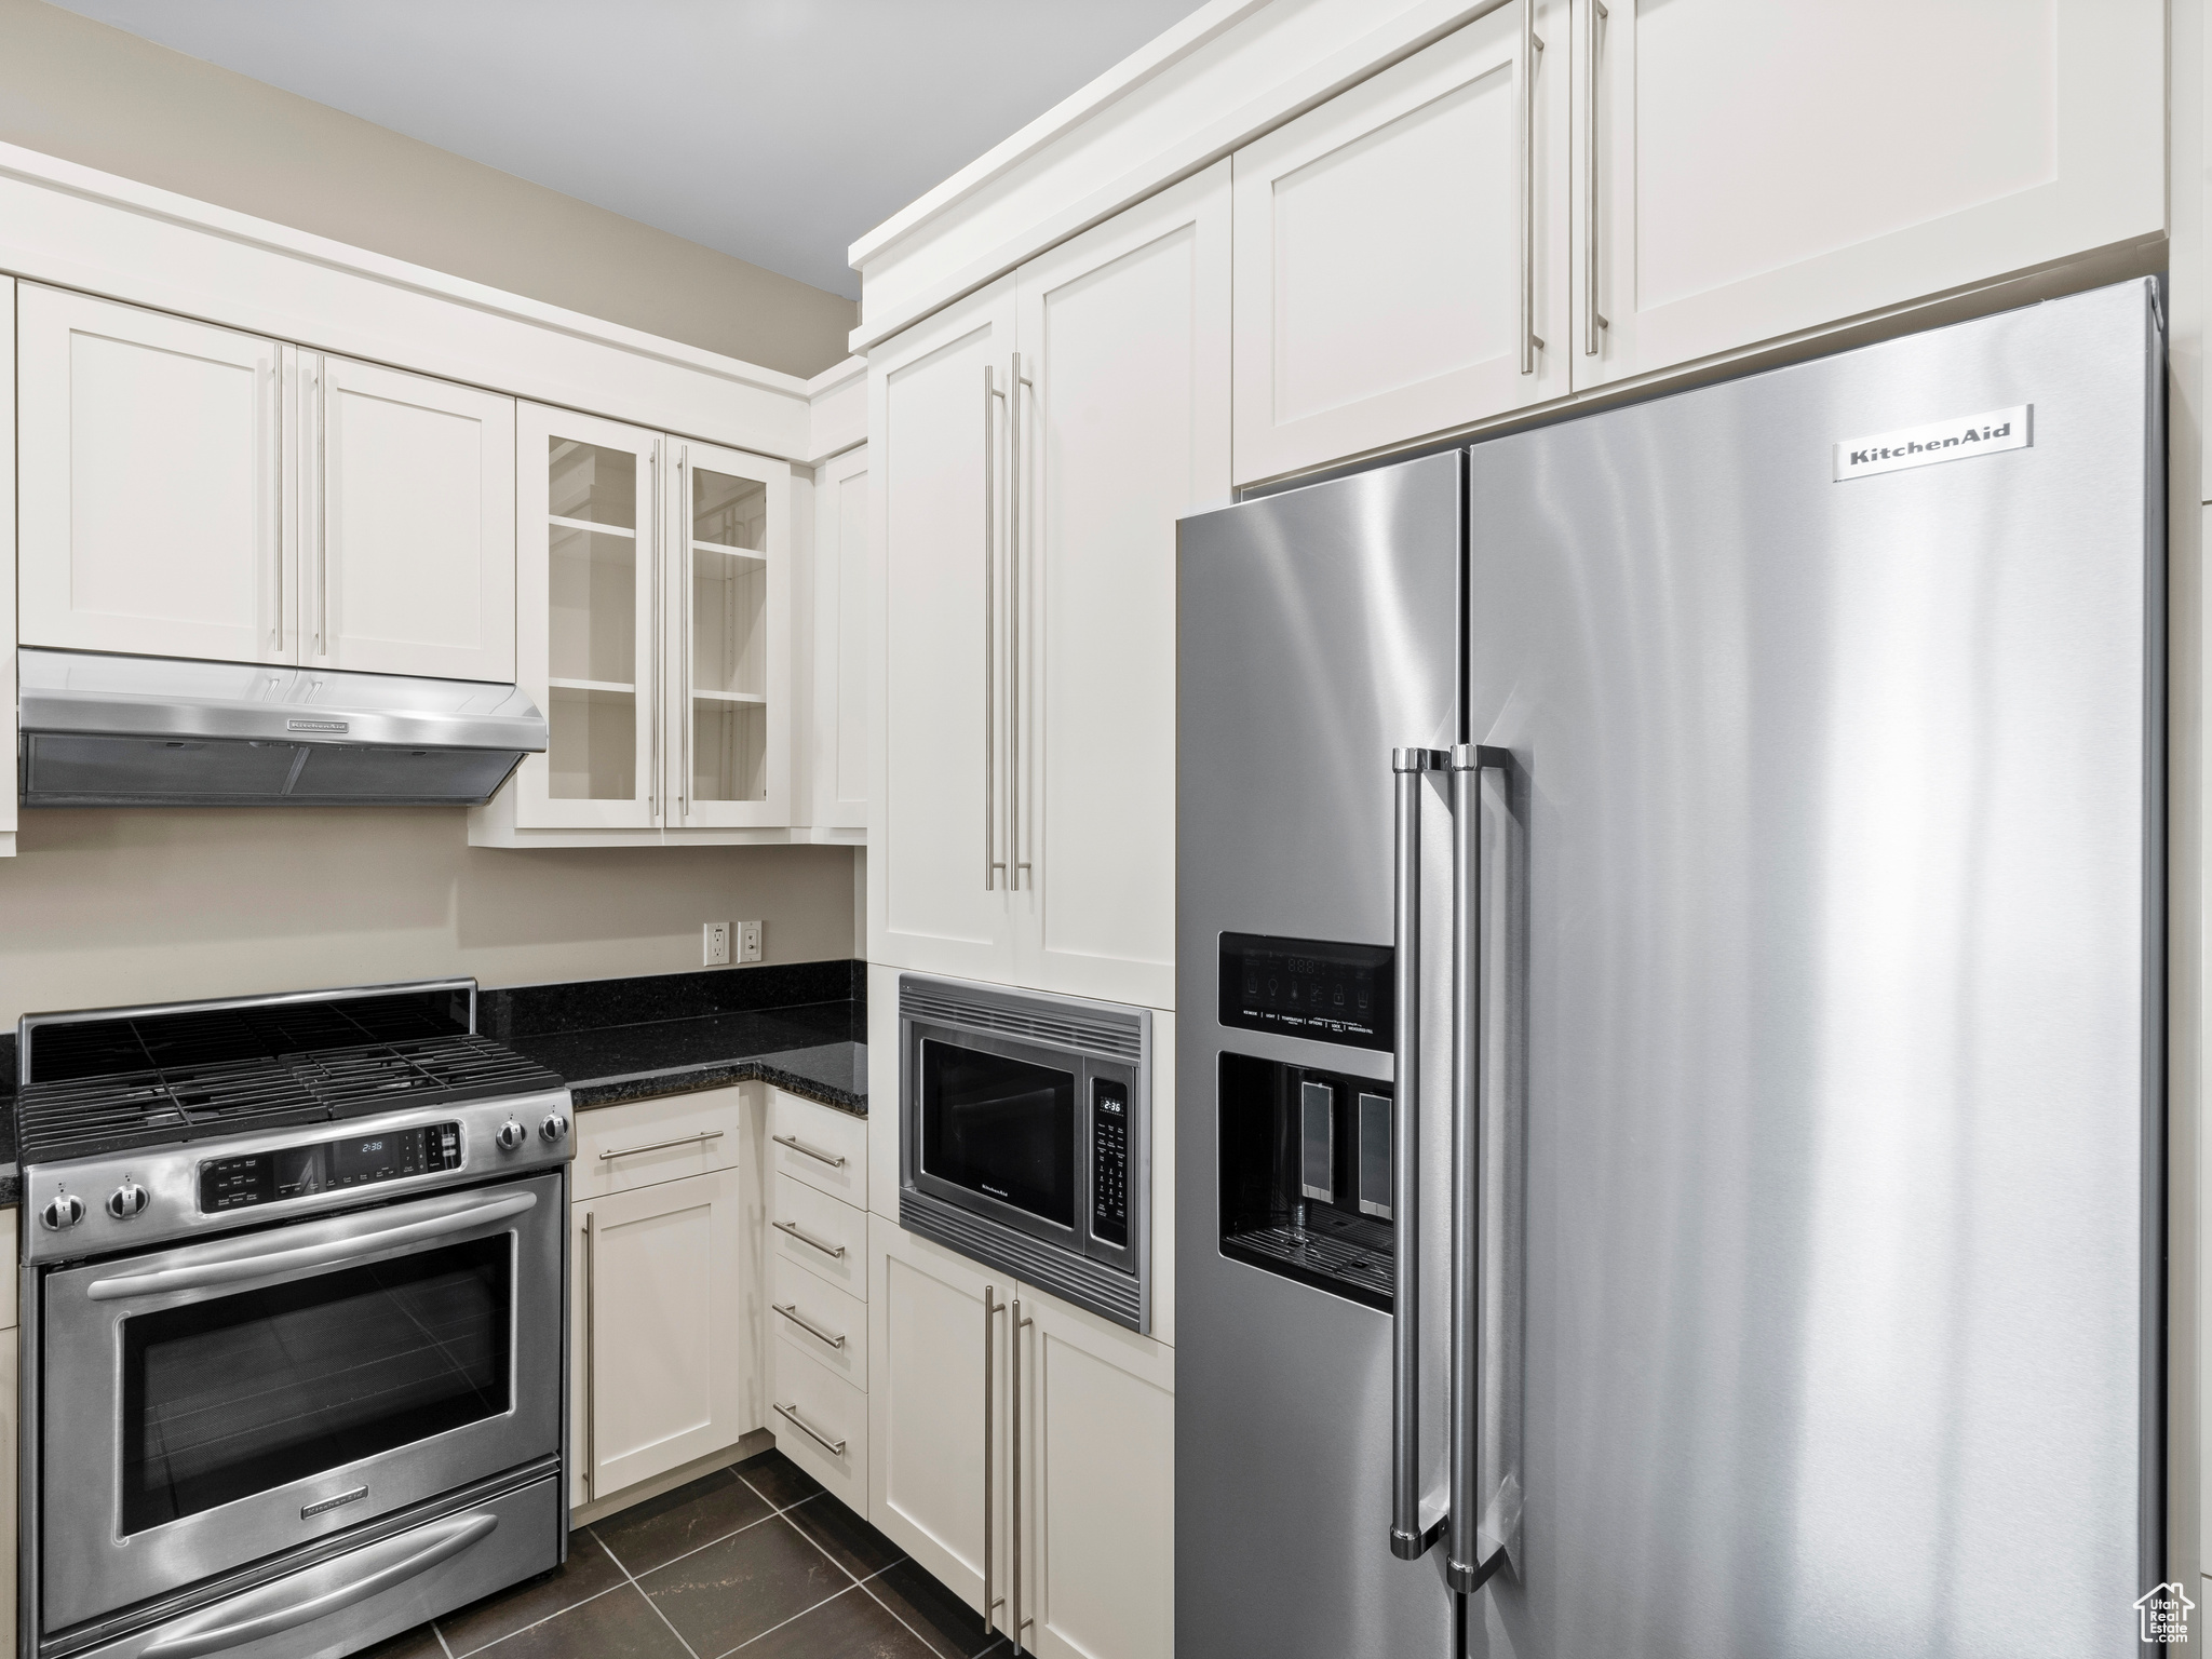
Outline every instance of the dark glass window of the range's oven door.
<svg viewBox="0 0 2212 1659">
<path fill-rule="evenodd" d="M 513 1234 L 124 1321 L 124 1533 L 509 1409 Z"/>
</svg>

